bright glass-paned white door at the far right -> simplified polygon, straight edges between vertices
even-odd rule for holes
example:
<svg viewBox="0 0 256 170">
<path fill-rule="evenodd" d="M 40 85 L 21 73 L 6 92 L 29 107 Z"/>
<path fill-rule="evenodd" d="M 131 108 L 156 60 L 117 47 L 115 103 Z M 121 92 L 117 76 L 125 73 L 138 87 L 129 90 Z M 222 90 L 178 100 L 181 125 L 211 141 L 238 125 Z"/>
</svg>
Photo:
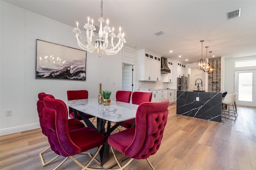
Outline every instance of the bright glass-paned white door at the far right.
<svg viewBox="0 0 256 170">
<path fill-rule="evenodd" d="M 237 105 L 256 107 L 256 70 L 234 71 L 234 92 Z"/>
</svg>

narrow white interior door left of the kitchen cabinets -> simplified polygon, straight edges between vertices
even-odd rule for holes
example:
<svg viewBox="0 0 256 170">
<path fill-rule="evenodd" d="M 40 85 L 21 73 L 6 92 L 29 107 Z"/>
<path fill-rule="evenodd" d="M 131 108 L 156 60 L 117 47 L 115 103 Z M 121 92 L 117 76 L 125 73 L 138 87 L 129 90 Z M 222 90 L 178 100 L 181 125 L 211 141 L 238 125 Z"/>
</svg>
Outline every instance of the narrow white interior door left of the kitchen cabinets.
<svg viewBox="0 0 256 170">
<path fill-rule="evenodd" d="M 133 65 L 124 64 L 122 67 L 122 90 L 133 92 Z"/>
</svg>

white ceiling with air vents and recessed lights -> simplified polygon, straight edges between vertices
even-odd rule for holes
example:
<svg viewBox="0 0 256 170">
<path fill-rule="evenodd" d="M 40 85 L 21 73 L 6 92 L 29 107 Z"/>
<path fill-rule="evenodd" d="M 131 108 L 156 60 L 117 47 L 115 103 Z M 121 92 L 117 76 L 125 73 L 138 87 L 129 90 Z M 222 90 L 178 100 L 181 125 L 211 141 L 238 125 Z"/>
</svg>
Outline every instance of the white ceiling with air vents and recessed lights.
<svg viewBox="0 0 256 170">
<path fill-rule="evenodd" d="M 78 21 L 82 28 L 87 16 L 99 26 L 100 0 L 4 1 L 73 27 Z M 227 20 L 226 12 L 238 8 L 241 16 Z M 109 18 L 111 28 L 122 27 L 126 46 L 184 63 L 201 58 L 200 40 L 204 40 L 203 58 L 205 46 L 216 57 L 256 55 L 255 0 L 104 0 L 103 17 Z M 154 35 L 159 31 L 164 34 Z"/>
</svg>

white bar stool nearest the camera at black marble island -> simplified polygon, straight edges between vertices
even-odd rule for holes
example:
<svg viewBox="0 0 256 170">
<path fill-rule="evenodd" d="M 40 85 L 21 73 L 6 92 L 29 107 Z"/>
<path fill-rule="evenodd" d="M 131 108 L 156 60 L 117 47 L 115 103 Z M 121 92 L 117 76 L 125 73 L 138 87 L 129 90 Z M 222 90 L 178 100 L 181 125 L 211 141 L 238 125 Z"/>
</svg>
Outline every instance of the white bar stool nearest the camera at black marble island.
<svg viewBox="0 0 256 170">
<path fill-rule="evenodd" d="M 222 116 L 224 115 L 224 121 L 226 121 L 226 119 L 230 119 L 230 117 L 235 117 L 235 119 L 230 119 L 232 121 L 236 120 L 236 112 L 235 112 L 235 108 L 234 108 L 234 101 L 236 98 L 236 94 L 227 94 L 224 98 L 224 100 L 222 101 Z M 232 104 L 233 109 L 230 110 L 230 105 Z M 228 110 L 228 113 L 226 113 L 226 109 Z M 228 115 L 228 118 L 226 117 L 226 115 Z"/>
</svg>

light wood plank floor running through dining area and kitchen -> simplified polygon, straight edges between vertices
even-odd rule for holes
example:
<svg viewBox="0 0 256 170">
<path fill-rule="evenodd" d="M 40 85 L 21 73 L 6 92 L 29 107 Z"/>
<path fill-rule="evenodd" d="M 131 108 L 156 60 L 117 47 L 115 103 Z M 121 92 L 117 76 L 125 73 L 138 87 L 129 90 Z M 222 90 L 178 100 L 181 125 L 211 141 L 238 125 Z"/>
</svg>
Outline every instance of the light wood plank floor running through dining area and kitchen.
<svg viewBox="0 0 256 170">
<path fill-rule="evenodd" d="M 42 167 L 38 154 L 48 146 L 41 129 L 0 136 L 0 169 L 53 169 L 63 158 Z M 47 155 L 50 159 L 55 154 Z M 86 163 L 86 156 L 77 158 Z M 256 108 L 238 107 L 237 121 L 217 123 L 176 115 L 174 103 L 160 149 L 149 160 L 156 170 L 256 170 Z M 106 166 L 113 162 L 110 158 Z M 68 159 L 59 169 L 81 168 Z M 146 160 L 134 160 L 128 169 L 150 170 L 150 166 Z"/>
</svg>

